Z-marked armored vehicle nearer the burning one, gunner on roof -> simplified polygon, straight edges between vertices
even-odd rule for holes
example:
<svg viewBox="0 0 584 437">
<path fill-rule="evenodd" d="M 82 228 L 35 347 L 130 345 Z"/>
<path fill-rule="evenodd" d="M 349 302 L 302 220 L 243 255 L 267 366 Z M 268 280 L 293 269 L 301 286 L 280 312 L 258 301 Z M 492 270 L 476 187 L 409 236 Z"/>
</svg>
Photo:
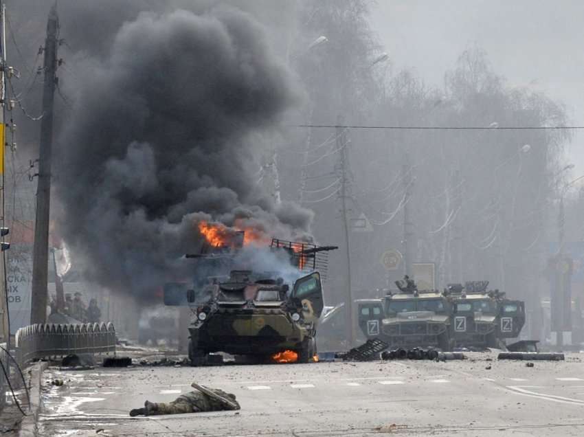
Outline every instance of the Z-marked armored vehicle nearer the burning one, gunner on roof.
<svg viewBox="0 0 584 437">
<path fill-rule="evenodd" d="M 396 285 L 399 291 L 388 293 L 385 299 L 359 304 L 359 326 L 366 337 L 379 337 L 390 348 L 451 350 L 449 298 L 436 290 L 418 291 L 407 276 Z"/>
</svg>

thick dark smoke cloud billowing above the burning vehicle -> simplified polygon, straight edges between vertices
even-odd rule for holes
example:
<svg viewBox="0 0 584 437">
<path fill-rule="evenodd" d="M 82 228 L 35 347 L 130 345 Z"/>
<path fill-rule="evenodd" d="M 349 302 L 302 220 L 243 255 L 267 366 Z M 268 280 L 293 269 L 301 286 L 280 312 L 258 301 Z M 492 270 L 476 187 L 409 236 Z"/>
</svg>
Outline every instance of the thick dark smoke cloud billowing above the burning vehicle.
<svg viewBox="0 0 584 437">
<path fill-rule="evenodd" d="M 257 143 L 297 96 L 250 16 L 142 12 L 85 65 L 56 185 L 63 235 L 96 280 L 146 296 L 187 275 L 201 219 L 308 238 L 311 212 L 254 180 Z"/>
</svg>

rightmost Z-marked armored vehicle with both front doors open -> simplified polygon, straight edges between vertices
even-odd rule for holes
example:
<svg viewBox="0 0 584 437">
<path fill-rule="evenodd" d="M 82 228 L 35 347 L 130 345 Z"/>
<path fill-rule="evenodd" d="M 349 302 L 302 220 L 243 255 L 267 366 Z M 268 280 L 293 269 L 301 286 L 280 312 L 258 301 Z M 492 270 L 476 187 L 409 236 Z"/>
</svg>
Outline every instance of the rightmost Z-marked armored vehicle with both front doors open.
<svg viewBox="0 0 584 437">
<path fill-rule="evenodd" d="M 502 348 L 504 338 L 519 335 L 525 323 L 524 302 L 508 300 L 498 290 L 487 291 L 488 281 L 449 284 L 454 305 L 453 338 L 456 346 Z"/>
</svg>

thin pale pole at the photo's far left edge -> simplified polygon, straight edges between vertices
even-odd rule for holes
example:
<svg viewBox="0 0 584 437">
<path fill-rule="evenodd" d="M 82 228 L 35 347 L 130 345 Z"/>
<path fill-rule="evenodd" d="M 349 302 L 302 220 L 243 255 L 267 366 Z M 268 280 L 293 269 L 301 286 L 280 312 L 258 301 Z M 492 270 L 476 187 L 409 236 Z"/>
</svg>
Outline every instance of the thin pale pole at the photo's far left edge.
<svg viewBox="0 0 584 437">
<path fill-rule="evenodd" d="M 5 265 L 5 249 L 8 249 L 10 245 L 4 242 L 4 237 L 8 234 L 8 228 L 5 227 L 5 209 L 4 209 L 4 196 L 5 196 L 5 177 L 4 177 L 4 151 L 5 151 L 5 144 L 6 144 L 6 124 L 5 124 L 5 111 L 6 111 L 6 75 L 10 74 L 7 70 L 6 65 L 6 26 L 5 26 L 5 14 L 6 14 L 6 6 L 4 3 L 0 5 L 0 13 L 1 16 L 1 25 L 2 25 L 2 34 L 1 34 L 1 71 L 0 71 L 0 87 L 1 87 L 1 95 L 0 101 L 2 108 L 0 109 L 0 174 L 1 174 L 1 183 L 2 186 L 0 187 L 0 219 L 1 219 L 1 227 L 0 227 L 0 234 L 2 238 L 1 243 L 1 251 L 2 251 L 2 258 L 0 259 L 0 342 L 6 343 L 8 348 L 10 348 L 10 322 L 8 320 L 8 296 L 6 293 L 6 272 L 4 269 Z"/>
</svg>

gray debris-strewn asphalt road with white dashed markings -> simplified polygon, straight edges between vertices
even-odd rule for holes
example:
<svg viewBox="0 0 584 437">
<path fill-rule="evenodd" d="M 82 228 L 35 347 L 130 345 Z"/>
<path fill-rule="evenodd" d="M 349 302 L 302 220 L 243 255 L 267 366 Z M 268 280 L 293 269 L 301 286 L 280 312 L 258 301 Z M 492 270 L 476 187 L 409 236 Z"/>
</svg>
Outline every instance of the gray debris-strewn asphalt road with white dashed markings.
<svg viewBox="0 0 584 437">
<path fill-rule="evenodd" d="M 584 435 L 584 361 L 388 361 L 207 368 L 50 368 L 41 436 Z M 582 355 L 584 359 L 584 355 Z M 491 366 L 490 370 L 486 368 Z M 239 412 L 130 418 L 196 381 Z"/>
</svg>

